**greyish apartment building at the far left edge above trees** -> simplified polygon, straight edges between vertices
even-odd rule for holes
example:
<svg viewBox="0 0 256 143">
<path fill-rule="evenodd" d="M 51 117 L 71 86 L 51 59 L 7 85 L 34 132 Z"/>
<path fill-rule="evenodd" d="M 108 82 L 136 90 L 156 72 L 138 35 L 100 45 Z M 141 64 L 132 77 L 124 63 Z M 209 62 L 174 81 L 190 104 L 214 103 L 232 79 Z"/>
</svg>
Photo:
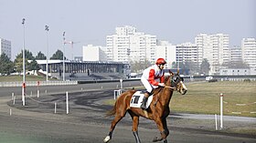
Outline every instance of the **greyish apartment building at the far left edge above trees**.
<svg viewBox="0 0 256 143">
<path fill-rule="evenodd" d="M 0 38 L 0 55 L 5 53 L 6 56 L 11 60 L 12 58 L 12 46 L 11 41 Z"/>
</svg>

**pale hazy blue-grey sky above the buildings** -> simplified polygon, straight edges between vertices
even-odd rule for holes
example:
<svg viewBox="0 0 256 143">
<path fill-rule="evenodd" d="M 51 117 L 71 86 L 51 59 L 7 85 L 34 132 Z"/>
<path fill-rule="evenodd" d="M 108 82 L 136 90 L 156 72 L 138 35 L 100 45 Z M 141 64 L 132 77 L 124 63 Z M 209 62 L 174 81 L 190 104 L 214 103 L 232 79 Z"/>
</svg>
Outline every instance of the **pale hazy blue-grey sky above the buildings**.
<svg viewBox="0 0 256 143">
<path fill-rule="evenodd" d="M 37 56 L 63 51 L 82 56 L 82 46 L 106 46 L 106 36 L 117 26 L 134 26 L 138 32 L 171 44 L 194 43 L 195 36 L 229 35 L 229 46 L 244 37 L 256 37 L 255 0 L 0 0 L 0 37 L 12 42 L 12 60 L 23 47 Z M 45 26 L 49 26 L 49 31 Z"/>
</svg>

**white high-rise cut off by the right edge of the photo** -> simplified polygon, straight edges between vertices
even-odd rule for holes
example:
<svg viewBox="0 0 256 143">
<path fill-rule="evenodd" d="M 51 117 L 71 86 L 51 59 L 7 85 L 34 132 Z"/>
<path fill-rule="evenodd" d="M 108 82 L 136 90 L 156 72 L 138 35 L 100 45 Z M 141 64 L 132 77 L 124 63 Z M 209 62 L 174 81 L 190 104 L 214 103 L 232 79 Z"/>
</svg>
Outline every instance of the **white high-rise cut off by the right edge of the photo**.
<svg viewBox="0 0 256 143">
<path fill-rule="evenodd" d="M 242 60 L 250 68 L 256 68 L 256 39 L 243 38 L 241 40 Z"/>
</svg>

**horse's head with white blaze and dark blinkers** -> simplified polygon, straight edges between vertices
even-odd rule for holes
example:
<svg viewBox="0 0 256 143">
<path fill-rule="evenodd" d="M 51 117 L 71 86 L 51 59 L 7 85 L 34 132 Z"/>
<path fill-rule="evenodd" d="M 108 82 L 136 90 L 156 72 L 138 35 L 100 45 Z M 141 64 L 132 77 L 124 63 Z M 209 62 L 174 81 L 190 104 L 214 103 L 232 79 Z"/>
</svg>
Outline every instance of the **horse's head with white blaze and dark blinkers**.
<svg viewBox="0 0 256 143">
<path fill-rule="evenodd" d="M 187 87 L 184 85 L 184 79 L 180 77 L 179 71 L 176 74 L 170 71 L 170 75 L 171 87 L 174 87 L 180 94 L 185 95 L 187 93 Z"/>
</svg>

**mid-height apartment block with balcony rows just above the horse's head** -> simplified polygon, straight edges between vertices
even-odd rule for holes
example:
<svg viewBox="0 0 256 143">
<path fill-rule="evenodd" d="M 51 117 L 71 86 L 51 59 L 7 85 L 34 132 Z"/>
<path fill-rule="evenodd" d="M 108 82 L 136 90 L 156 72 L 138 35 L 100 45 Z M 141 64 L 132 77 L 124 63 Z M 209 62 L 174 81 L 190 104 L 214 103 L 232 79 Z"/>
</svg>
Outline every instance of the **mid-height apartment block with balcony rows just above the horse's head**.
<svg viewBox="0 0 256 143">
<path fill-rule="evenodd" d="M 192 43 L 176 45 L 176 62 L 177 64 L 193 62 L 199 66 L 202 63 L 202 58 L 198 57 L 197 45 Z"/>
</svg>

